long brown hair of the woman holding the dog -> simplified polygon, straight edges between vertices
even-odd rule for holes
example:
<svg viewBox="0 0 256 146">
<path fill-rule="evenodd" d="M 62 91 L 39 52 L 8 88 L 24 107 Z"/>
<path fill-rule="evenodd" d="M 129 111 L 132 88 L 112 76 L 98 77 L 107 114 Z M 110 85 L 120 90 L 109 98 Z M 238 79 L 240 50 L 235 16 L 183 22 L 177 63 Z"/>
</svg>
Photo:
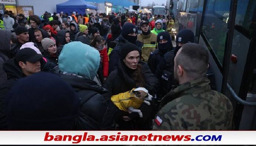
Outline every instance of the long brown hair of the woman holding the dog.
<svg viewBox="0 0 256 146">
<path fill-rule="evenodd" d="M 131 79 L 135 82 L 137 87 L 144 87 L 145 80 L 143 76 L 142 65 L 138 63 L 137 69 L 131 74 Z"/>
</svg>

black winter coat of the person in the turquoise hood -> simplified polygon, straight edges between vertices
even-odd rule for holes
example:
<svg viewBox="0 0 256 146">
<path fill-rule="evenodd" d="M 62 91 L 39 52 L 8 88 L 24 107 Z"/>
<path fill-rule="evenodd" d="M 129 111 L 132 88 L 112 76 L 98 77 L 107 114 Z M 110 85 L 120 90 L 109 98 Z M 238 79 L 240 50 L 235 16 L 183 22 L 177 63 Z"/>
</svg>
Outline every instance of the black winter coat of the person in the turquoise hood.
<svg viewBox="0 0 256 146">
<path fill-rule="evenodd" d="M 109 116 L 110 109 L 102 94 L 108 92 L 96 82 L 85 77 L 69 76 L 60 73 L 58 67 L 52 70 L 66 82 L 68 82 L 76 92 L 80 100 L 79 119 L 76 120 L 76 130 L 109 130 L 112 129 L 113 119 Z"/>
</svg>

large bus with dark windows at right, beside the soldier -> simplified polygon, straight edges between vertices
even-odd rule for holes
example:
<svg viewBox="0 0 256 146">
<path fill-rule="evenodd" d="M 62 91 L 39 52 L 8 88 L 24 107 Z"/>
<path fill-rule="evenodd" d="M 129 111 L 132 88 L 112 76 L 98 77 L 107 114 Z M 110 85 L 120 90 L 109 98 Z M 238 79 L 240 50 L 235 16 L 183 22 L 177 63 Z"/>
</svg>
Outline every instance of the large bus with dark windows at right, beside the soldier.
<svg viewBox="0 0 256 146">
<path fill-rule="evenodd" d="M 234 128 L 256 130 L 256 0 L 167 0 L 175 29 L 209 50 L 216 90 L 232 101 Z"/>
</svg>

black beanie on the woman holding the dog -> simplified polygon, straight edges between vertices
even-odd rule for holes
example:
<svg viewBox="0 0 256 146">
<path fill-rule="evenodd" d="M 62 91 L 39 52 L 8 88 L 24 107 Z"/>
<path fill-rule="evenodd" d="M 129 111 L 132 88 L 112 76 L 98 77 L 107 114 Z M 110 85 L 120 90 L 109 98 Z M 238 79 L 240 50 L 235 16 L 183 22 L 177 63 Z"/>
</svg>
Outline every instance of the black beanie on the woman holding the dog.
<svg viewBox="0 0 256 146">
<path fill-rule="evenodd" d="M 121 56 L 120 59 L 124 60 L 126 55 L 134 50 L 137 50 L 140 53 L 140 48 L 138 46 L 136 46 L 133 43 L 128 42 L 127 40 L 123 40 L 124 43 L 121 47 Z"/>
</svg>

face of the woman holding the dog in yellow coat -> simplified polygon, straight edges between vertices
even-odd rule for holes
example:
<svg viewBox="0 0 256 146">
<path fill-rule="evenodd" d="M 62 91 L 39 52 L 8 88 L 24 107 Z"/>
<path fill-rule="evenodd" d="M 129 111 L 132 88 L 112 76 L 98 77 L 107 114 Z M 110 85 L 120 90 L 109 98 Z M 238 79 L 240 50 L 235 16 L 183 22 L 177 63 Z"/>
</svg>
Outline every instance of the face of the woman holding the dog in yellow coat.
<svg viewBox="0 0 256 146">
<path fill-rule="evenodd" d="M 123 62 L 130 69 L 137 69 L 139 60 L 140 60 L 140 53 L 137 50 L 134 50 L 126 55 Z"/>
</svg>

